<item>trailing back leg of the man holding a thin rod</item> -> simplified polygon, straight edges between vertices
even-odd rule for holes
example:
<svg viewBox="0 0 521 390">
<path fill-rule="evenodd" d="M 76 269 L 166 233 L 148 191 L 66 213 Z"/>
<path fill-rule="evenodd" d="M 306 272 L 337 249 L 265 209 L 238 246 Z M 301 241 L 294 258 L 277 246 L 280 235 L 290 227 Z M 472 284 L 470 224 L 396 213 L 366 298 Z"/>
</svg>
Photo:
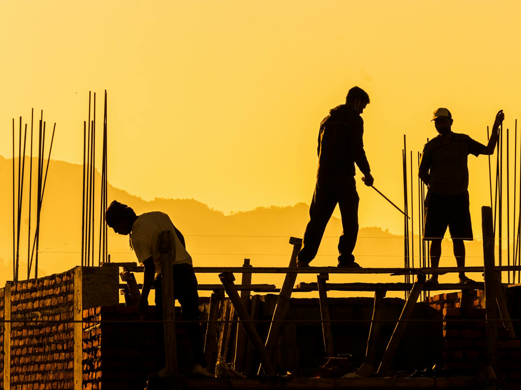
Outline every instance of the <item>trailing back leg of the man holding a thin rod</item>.
<svg viewBox="0 0 521 390">
<path fill-rule="evenodd" d="M 309 206 L 309 222 L 304 232 L 302 249 L 297 255 L 299 265 L 309 264 L 317 255 L 324 230 L 336 205 L 337 200 L 329 190 L 328 184 L 324 183 L 324 180 L 317 180 L 311 206 Z"/>
</svg>

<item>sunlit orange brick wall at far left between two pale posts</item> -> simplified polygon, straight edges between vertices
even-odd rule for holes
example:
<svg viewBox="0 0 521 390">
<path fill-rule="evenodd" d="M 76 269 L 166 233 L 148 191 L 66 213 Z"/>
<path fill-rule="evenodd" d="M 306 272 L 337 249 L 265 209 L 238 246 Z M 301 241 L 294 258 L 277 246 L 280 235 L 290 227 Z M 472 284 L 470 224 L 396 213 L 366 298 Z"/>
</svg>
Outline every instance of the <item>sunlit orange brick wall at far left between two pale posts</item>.
<svg viewBox="0 0 521 390">
<path fill-rule="evenodd" d="M 11 283 L 11 389 L 71 388 L 72 272 Z"/>
</svg>

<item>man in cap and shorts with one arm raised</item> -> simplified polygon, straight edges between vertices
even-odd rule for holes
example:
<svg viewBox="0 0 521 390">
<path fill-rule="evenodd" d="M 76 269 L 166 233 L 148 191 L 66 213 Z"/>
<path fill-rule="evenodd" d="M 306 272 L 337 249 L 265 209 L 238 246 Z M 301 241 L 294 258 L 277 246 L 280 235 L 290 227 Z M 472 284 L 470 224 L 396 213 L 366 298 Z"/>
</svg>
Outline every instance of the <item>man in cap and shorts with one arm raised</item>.
<svg viewBox="0 0 521 390">
<path fill-rule="evenodd" d="M 464 240 L 472 240 L 472 223 L 468 202 L 467 156 L 493 154 L 498 140 L 499 127 L 505 115 L 500 110 L 495 116 L 492 134 L 487 146 L 480 144 L 466 134 L 453 133 L 452 114 L 446 108 L 434 112 L 438 136 L 424 146 L 418 168 L 418 176 L 428 186 L 425 197 L 424 240 L 431 241 L 430 262 L 438 267 L 441 256 L 441 240 L 447 226 L 451 233 L 454 256 L 458 267 L 465 266 Z M 472 279 L 459 273 L 460 283 L 472 283 Z M 427 284 L 438 283 L 438 275 L 432 275 Z"/>
</svg>

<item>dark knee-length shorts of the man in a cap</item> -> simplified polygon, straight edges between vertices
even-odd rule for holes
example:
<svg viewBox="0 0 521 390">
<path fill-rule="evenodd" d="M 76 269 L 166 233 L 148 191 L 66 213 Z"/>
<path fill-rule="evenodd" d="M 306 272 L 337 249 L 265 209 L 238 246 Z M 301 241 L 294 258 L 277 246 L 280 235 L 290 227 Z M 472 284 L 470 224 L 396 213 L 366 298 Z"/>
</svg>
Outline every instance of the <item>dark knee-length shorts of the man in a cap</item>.
<svg viewBox="0 0 521 390">
<path fill-rule="evenodd" d="M 457 195 L 443 195 L 428 191 L 425 197 L 425 240 L 442 239 L 447 226 L 453 239 L 473 240 L 468 208 L 468 191 Z"/>
</svg>

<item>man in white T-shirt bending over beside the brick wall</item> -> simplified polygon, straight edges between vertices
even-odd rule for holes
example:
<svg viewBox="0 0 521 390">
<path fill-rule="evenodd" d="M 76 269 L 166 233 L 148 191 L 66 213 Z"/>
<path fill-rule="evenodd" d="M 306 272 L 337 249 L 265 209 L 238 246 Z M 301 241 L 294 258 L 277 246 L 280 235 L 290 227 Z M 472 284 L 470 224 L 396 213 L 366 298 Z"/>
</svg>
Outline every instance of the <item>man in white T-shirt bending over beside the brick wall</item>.
<svg viewBox="0 0 521 390">
<path fill-rule="evenodd" d="M 105 212 L 107 225 L 120 235 L 130 235 L 130 247 L 134 250 L 140 263 L 145 267 L 143 289 L 139 300 L 139 314 L 145 319 L 148 306 L 148 293 L 152 284 L 155 288 L 156 315 L 163 319 L 163 294 L 161 282 L 162 267 L 173 268 L 174 296 L 181 304 L 181 316 L 185 320 L 199 321 L 199 295 L 197 279 L 192 268 L 192 257 L 185 248 L 184 237 L 172 224 L 170 217 L 162 212 L 154 211 L 135 215 L 126 204 L 113 201 Z M 162 264 L 159 252 L 158 236 L 163 231 L 170 231 L 175 245 L 175 258 L 169 264 Z M 172 305 L 174 302 L 172 302 Z M 199 323 L 187 324 L 190 346 L 194 361 L 193 374 L 213 376 L 206 371 L 203 355 L 203 336 Z"/>
</svg>

